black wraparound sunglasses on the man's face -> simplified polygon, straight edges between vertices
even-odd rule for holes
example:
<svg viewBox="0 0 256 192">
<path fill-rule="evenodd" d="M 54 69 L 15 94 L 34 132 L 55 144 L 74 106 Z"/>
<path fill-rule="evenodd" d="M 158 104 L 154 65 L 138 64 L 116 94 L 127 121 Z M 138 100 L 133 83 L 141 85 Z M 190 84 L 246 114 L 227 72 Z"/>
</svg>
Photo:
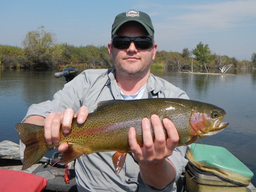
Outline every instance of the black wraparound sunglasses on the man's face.
<svg viewBox="0 0 256 192">
<path fill-rule="evenodd" d="M 151 37 L 125 37 L 117 36 L 112 38 L 111 43 L 113 47 L 117 49 L 128 49 L 130 47 L 131 41 L 134 42 L 137 49 L 149 49 L 153 46 L 154 39 Z"/>
</svg>

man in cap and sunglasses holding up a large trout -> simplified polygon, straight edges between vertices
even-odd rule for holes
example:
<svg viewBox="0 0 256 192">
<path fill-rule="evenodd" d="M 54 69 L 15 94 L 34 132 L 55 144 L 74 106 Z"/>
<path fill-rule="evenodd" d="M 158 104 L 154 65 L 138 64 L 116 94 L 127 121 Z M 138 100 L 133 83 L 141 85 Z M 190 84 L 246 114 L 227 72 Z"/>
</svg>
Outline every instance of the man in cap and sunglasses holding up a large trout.
<svg viewBox="0 0 256 192">
<path fill-rule="evenodd" d="M 55 93 L 52 101 L 32 105 L 24 122 L 44 125 L 48 144 L 59 142 L 59 131 L 68 133 L 74 116 L 84 123 L 97 103 L 112 99 L 183 98 L 185 92 L 150 73 L 157 44 L 150 17 L 137 10 L 116 16 L 112 26 L 108 51 L 114 70 L 85 70 Z M 157 115 L 151 116 L 155 140 L 152 140 L 149 119 L 142 120 L 143 147 L 130 128 L 129 153 L 121 172 L 116 175 L 112 155 L 102 152 L 82 155 L 76 160 L 76 182 L 79 191 L 175 191 L 175 181 L 186 166 L 185 147 L 175 148 L 179 137 L 169 119 L 163 119 L 168 139 Z M 65 151 L 61 144 L 59 151 Z"/>
</svg>

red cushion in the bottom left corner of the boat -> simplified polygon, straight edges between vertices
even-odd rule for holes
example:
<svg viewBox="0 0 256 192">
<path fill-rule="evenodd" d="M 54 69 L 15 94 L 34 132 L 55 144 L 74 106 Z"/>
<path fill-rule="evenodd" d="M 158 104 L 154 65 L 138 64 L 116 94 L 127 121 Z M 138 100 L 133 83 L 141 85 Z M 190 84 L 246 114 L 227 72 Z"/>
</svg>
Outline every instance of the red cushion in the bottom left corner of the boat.
<svg viewBox="0 0 256 192">
<path fill-rule="evenodd" d="M 0 169 L 0 191 L 2 192 L 41 192 L 45 188 L 47 179 L 38 175 Z"/>
</svg>

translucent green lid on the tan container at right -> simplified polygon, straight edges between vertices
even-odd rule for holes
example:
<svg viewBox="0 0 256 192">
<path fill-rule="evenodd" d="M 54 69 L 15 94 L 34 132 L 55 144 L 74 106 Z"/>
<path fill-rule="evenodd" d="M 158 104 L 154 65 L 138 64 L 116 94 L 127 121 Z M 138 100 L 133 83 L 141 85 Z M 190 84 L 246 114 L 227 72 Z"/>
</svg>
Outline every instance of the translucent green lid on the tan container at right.
<svg viewBox="0 0 256 192">
<path fill-rule="evenodd" d="M 253 172 L 226 148 L 193 143 L 190 151 L 195 161 L 202 162 L 209 167 L 227 170 L 249 178 L 253 177 Z"/>
</svg>

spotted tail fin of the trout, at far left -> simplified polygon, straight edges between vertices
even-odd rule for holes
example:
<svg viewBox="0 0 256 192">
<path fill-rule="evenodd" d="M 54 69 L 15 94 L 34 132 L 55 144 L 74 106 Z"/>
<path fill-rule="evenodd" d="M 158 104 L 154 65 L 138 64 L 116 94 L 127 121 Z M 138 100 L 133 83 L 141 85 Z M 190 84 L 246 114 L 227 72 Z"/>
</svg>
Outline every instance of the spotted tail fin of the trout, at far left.
<svg viewBox="0 0 256 192">
<path fill-rule="evenodd" d="M 28 169 L 37 163 L 54 145 L 48 145 L 44 139 L 44 126 L 29 123 L 15 125 L 20 140 L 26 145 L 22 169 Z"/>
</svg>

